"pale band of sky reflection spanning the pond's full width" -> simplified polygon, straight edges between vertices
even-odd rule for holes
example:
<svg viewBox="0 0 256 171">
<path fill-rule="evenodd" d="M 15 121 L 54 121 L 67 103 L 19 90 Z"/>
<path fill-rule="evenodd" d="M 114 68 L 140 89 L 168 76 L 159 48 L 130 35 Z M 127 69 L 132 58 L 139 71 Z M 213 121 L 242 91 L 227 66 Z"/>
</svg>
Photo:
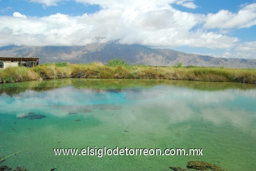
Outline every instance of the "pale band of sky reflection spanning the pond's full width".
<svg viewBox="0 0 256 171">
<path fill-rule="evenodd" d="M 200 91 L 175 86 L 155 86 L 124 90 L 93 90 L 67 86 L 40 92 L 26 90 L 13 96 L 2 94 L 0 108 L 1 113 L 19 115 L 30 111 L 39 112 L 40 108 L 45 107 L 49 108 L 48 113 L 52 115 L 64 116 L 82 111 L 91 112 L 93 108 L 104 109 L 102 106 L 92 107 L 92 105 L 120 105 L 129 101 L 136 101 L 133 105 L 136 113 L 143 113 L 144 103 L 146 108 L 160 108 L 159 111 L 167 115 L 169 123 L 201 117 L 216 125 L 230 122 L 234 127 L 250 130 L 251 133 L 255 128 L 256 91 L 253 89 Z M 56 109 L 60 110 L 56 111 Z M 138 117 L 133 112 L 127 115 L 130 119 Z"/>
</svg>

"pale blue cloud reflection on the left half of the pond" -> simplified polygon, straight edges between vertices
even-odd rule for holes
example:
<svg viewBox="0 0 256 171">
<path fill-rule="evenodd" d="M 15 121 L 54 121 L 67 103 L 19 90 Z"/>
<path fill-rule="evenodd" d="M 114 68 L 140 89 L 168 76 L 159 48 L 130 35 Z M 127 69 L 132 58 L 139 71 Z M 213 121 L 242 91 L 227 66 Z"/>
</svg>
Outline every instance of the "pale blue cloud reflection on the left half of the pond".
<svg viewBox="0 0 256 171">
<path fill-rule="evenodd" d="M 90 109 L 84 108 L 84 105 L 95 104 L 113 104 L 125 101 L 123 94 L 116 92 L 97 91 L 93 89 L 75 89 L 73 87 L 62 87 L 50 91 L 36 92 L 27 90 L 18 95 L 0 96 L 0 108 L 5 111 L 5 114 L 22 114 L 29 112 L 42 112 L 46 110 L 55 116 L 65 116 L 69 112 L 87 113 Z M 51 108 L 52 106 L 62 106 L 61 110 Z M 68 105 L 68 108 L 65 107 Z M 83 108 L 77 108 L 77 106 Z M 95 106 L 94 106 L 95 108 Z M 100 106 L 99 110 L 119 110 L 118 106 Z M 65 111 L 66 109 L 66 111 Z"/>
</svg>

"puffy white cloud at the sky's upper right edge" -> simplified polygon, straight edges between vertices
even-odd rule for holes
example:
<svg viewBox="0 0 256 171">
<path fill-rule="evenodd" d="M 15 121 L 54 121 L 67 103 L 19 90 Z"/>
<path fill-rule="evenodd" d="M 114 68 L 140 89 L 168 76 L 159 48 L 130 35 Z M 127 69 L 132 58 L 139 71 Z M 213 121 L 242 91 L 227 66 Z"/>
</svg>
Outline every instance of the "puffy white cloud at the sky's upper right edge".
<svg viewBox="0 0 256 171">
<path fill-rule="evenodd" d="M 244 6 L 238 13 L 221 10 L 216 14 L 208 14 L 204 28 L 249 28 L 256 25 L 256 3 Z"/>
</svg>

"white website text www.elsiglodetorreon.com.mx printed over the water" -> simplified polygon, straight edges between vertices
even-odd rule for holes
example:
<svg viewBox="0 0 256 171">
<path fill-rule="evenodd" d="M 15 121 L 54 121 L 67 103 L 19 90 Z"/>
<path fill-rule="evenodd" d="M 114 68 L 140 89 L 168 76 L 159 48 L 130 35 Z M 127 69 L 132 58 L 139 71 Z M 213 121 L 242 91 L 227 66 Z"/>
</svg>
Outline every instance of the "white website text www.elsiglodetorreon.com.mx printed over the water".
<svg viewBox="0 0 256 171">
<path fill-rule="evenodd" d="M 93 149 L 89 148 L 89 146 L 87 146 L 86 149 L 53 149 L 54 154 L 56 156 L 60 156 L 60 155 L 72 155 L 72 156 L 97 156 L 97 157 L 102 157 L 102 156 L 202 156 L 203 155 L 203 149 L 188 149 L 187 153 L 185 152 L 185 149 L 165 149 L 163 152 L 161 149 L 129 149 L 127 147 L 125 147 L 124 149 L 122 148 L 118 148 L 116 146 L 116 148 L 114 149 L 109 149 L 106 148 L 105 146 L 103 148 L 98 148 L 97 146 L 94 146 Z"/>
</svg>

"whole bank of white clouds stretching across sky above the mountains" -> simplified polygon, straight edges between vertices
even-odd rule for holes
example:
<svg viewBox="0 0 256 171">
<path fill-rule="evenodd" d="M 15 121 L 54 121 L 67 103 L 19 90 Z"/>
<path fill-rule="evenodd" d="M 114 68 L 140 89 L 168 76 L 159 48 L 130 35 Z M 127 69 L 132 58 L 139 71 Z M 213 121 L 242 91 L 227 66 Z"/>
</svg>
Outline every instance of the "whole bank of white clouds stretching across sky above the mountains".
<svg viewBox="0 0 256 171">
<path fill-rule="evenodd" d="M 62 0 L 63 1 L 63 0 Z M 31 0 L 45 7 L 61 0 Z M 14 12 L 0 16 L 0 46 L 5 45 L 86 45 L 116 41 L 150 47 L 206 47 L 255 52 L 255 42 L 240 42 L 230 30 L 256 25 L 256 3 L 237 13 L 221 10 L 216 14 L 195 14 L 177 10 L 173 4 L 195 9 L 193 0 L 76 0 L 83 5 L 99 5 L 93 14 L 71 16 L 54 14 L 37 17 Z"/>
</svg>

